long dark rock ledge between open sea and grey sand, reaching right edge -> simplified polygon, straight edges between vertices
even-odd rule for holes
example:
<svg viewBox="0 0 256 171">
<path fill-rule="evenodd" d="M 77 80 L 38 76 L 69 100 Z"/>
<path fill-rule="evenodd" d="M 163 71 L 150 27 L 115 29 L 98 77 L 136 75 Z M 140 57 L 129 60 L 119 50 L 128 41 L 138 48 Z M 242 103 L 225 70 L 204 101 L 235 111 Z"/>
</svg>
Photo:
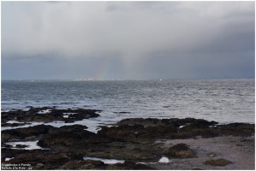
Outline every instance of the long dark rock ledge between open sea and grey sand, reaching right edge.
<svg viewBox="0 0 256 171">
<path fill-rule="evenodd" d="M 140 142 L 156 139 L 196 139 L 218 136 L 251 136 L 254 124 L 233 123 L 216 125 L 215 121 L 201 119 L 156 119 L 130 118 L 118 121 L 114 127 L 102 127 L 98 134 L 110 139 Z"/>
</svg>

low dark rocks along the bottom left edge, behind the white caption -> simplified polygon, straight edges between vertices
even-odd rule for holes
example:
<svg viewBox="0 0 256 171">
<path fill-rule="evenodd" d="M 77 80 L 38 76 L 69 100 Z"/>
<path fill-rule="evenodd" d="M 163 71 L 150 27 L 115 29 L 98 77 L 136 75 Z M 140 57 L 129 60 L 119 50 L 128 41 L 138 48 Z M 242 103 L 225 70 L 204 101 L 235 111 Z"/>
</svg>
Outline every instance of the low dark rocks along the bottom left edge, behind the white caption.
<svg viewBox="0 0 256 171">
<path fill-rule="evenodd" d="M 101 161 L 83 160 L 82 156 L 76 156 L 72 153 L 63 153 L 50 150 L 13 150 L 2 149 L 2 163 L 29 163 L 33 169 L 153 169 L 144 164 L 135 162 L 123 162 L 116 164 L 104 164 Z M 12 158 L 5 161 L 5 158 Z"/>
</svg>

